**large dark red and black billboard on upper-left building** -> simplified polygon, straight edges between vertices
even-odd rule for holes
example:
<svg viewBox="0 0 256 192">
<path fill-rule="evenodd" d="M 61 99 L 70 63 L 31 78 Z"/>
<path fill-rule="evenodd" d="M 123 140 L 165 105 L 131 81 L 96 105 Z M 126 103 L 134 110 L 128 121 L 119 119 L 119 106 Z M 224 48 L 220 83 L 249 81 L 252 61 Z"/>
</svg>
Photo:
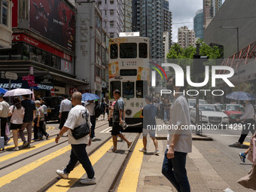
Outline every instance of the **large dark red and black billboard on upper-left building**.
<svg viewBox="0 0 256 192">
<path fill-rule="evenodd" d="M 75 13 L 60 0 L 30 0 L 29 27 L 56 44 L 75 50 Z"/>
</svg>

